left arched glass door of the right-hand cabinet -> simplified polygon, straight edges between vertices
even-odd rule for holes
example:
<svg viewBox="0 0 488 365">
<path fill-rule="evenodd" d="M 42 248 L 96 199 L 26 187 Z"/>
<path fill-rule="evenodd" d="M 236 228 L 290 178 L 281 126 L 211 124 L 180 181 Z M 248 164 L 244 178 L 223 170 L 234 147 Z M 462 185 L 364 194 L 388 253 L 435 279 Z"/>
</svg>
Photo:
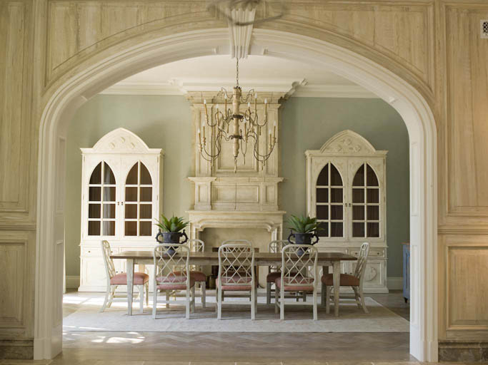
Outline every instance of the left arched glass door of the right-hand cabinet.
<svg viewBox="0 0 488 365">
<path fill-rule="evenodd" d="M 317 178 L 315 212 L 319 237 L 344 237 L 344 183 L 332 163 L 322 168 Z"/>
</svg>

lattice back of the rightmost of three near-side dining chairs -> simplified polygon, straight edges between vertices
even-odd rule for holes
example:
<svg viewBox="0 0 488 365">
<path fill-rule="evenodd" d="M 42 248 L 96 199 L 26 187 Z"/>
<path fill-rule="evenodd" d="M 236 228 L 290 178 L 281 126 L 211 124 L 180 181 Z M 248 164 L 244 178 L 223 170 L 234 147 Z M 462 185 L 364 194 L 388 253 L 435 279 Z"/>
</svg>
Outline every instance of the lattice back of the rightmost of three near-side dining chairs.
<svg viewBox="0 0 488 365">
<path fill-rule="evenodd" d="M 317 282 L 317 249 L 311 245 L 287 245 L 282 250 L 282 284 L 309 287 Z"/>
</svg>

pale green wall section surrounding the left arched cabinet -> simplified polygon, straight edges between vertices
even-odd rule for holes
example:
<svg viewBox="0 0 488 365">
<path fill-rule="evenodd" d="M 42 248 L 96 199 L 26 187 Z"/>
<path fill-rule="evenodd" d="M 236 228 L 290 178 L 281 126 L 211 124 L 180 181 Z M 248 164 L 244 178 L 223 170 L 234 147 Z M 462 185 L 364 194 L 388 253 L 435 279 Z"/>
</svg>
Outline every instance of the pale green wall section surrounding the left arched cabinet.
<svg viewBox="0 0 488 365">
<path fill-rule="evenodd" d="M 81 151 L 124 127 L 149 148 L 164 150 L 164 213 L 184 215 L 191 205 L 191 109 L 183 96 L 99 95 L 76 111 L 66 151 L 66 275 L 79 275 Z"/>
</svg>

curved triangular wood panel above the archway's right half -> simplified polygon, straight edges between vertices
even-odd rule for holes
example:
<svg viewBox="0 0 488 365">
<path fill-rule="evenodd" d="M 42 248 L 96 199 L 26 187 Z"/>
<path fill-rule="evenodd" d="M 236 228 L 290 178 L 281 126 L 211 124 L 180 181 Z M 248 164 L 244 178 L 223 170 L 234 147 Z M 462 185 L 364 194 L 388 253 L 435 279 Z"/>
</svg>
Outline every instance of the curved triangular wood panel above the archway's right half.
<svg viewBox="0 0 488 365">
<path fill-rule="evenodd" d="M 281 21 L 288 26 L 306 24 L 310 32 L 329 30 L 373 48 L 407 68 L 433 91 L 432 2 L 290 1 Z"/>
</svg>

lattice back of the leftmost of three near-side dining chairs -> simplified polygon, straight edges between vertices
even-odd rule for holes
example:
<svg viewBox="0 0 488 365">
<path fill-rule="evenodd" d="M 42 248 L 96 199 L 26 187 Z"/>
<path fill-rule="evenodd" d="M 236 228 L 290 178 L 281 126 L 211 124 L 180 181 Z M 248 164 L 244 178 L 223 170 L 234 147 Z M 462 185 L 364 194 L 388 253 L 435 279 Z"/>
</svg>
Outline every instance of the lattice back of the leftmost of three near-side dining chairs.
<svg viewBox="0 0 488 365">
<path fill-rule="evenodd" d="M 174 243 L 161 243 L 154 247 L 154 281 L 156 284 L 175 284 L 189 286 L 188 246 Z M 179 272 L 175 275 L 174 272 Z"/>
</svg>

